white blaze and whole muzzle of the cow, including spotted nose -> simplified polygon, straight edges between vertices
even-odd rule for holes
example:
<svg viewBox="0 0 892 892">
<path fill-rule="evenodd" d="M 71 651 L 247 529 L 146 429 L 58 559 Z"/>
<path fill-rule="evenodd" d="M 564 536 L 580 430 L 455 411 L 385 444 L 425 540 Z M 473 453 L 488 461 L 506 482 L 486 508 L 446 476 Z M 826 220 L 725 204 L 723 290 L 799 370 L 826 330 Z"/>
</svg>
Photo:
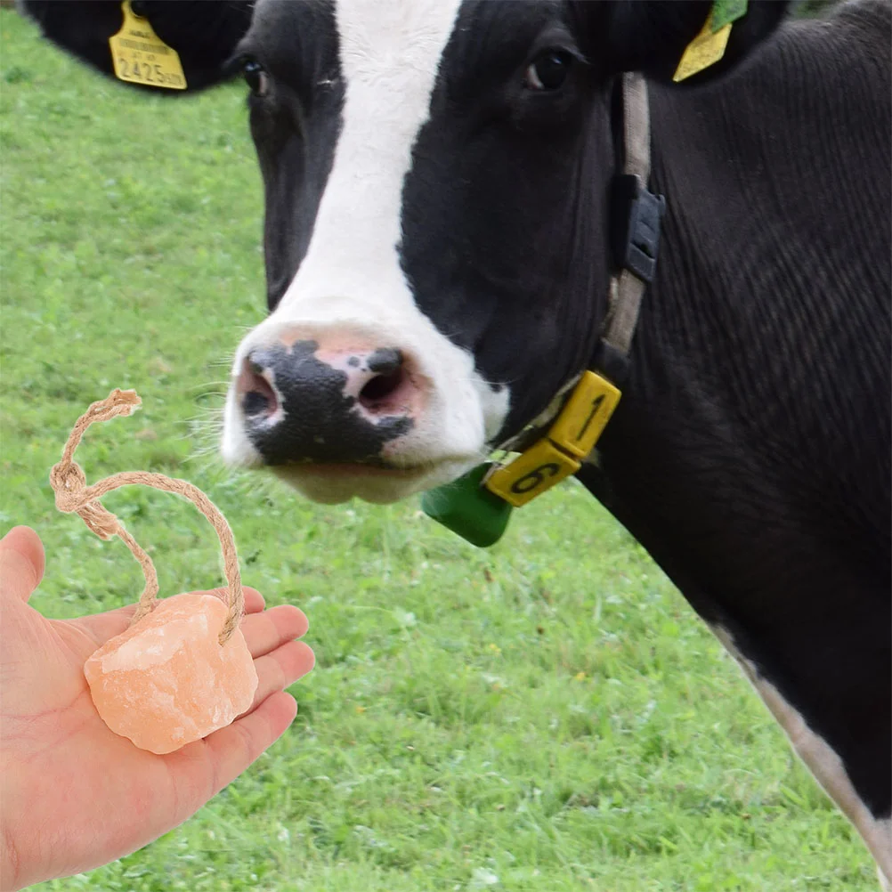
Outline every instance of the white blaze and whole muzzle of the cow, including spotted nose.
<svg viewBox="0 0 892 892">
<path fill-rule="evenodd" d="M 391 501 L 453 479 L 508 411 L 508 388 L 418 308 L 398 250 L 412 149 L 459 5 L 335 6 L 334 160 L 296 275 L 236 351 L 222 440 L 228 462 L 270 464 L 315 500 Z"/>
</svg>

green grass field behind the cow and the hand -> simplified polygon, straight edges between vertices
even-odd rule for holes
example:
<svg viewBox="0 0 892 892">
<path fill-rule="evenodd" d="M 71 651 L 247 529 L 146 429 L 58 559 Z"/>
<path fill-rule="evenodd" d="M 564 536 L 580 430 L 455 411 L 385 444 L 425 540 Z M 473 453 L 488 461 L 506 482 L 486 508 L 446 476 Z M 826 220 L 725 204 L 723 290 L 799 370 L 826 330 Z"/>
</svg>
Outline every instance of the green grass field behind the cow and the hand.
<svg viewBox="0 0 892 892">
<path fill-rule="evenodd" d="M 0 26 L 0 509 L 3 532 L 45 541 L 32 603 L 73 616 L 140 591 L 123 545 L 58 514 L 47 483 L 87 403 L 136 387 L 144 411 L 87 435 L 87 478 L 202 487 L 246 582 L 307 612 L 318 656 L 252 770 L 152 846 L 42 892 L 874 892 L 854 831 L 731 659 L 581 487 L 480 551 L 416 501 L 317 507 L 219 467 L 227 356 L 263 312 L 244 90 L 138 95 L 14 13 Z M 151 543 L 162 594 L 217 584 L 190 505 L 106 502 Z"/>
</svg>

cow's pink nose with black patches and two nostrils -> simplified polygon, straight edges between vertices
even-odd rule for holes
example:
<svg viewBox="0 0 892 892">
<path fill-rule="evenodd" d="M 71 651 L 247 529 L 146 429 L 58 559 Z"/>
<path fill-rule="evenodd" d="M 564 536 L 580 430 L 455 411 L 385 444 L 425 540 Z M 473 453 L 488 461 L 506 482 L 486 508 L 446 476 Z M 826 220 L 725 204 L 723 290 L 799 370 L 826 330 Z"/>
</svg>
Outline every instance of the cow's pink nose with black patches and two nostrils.
<svg viewBox="0 0 892 892">
<path fill-rule="evenodd" d="M 420 398 L 401 351 L 316 341 L 254 349 L 237 392 L 246 433 L 270 465 L 380 462 L 414 425 Z"/>
</svg>

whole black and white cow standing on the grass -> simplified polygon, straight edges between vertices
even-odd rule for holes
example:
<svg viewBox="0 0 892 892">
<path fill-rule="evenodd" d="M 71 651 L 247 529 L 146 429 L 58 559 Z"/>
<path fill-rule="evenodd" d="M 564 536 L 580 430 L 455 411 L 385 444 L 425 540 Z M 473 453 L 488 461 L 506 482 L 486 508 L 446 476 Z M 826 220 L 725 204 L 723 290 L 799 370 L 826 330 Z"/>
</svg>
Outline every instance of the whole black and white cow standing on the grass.
<svg viewBox="0 0 892 892">
<path fill-rule="evenodd" d="M 111 72 L 117 3 L 25 2 Z M 140 2 L 190 87 L 244 71 L 269 315 L 222 451 L 385 502 L 517 434 L 599 341 L 618 76 L 667 211 L 582 483 L 731 653 L 892 880 L 890 6 Z"/>
</svg>

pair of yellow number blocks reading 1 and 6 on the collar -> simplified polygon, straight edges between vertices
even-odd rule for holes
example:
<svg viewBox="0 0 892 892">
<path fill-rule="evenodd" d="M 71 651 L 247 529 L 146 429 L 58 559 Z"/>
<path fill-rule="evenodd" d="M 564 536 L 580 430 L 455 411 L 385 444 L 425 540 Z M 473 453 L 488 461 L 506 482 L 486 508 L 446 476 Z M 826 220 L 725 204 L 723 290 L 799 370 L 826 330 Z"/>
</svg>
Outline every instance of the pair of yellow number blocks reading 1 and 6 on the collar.
<svg viewBox="0 0 892 892">
<path fill-rule="evenodd" d="M 565 477 L 575 474 L 613 415 L 621 393 L 596 372 L 587 371 L 548 434 L 510 465 L 496 467 L 483 485 L 520 508 Z"/>
</svg>

